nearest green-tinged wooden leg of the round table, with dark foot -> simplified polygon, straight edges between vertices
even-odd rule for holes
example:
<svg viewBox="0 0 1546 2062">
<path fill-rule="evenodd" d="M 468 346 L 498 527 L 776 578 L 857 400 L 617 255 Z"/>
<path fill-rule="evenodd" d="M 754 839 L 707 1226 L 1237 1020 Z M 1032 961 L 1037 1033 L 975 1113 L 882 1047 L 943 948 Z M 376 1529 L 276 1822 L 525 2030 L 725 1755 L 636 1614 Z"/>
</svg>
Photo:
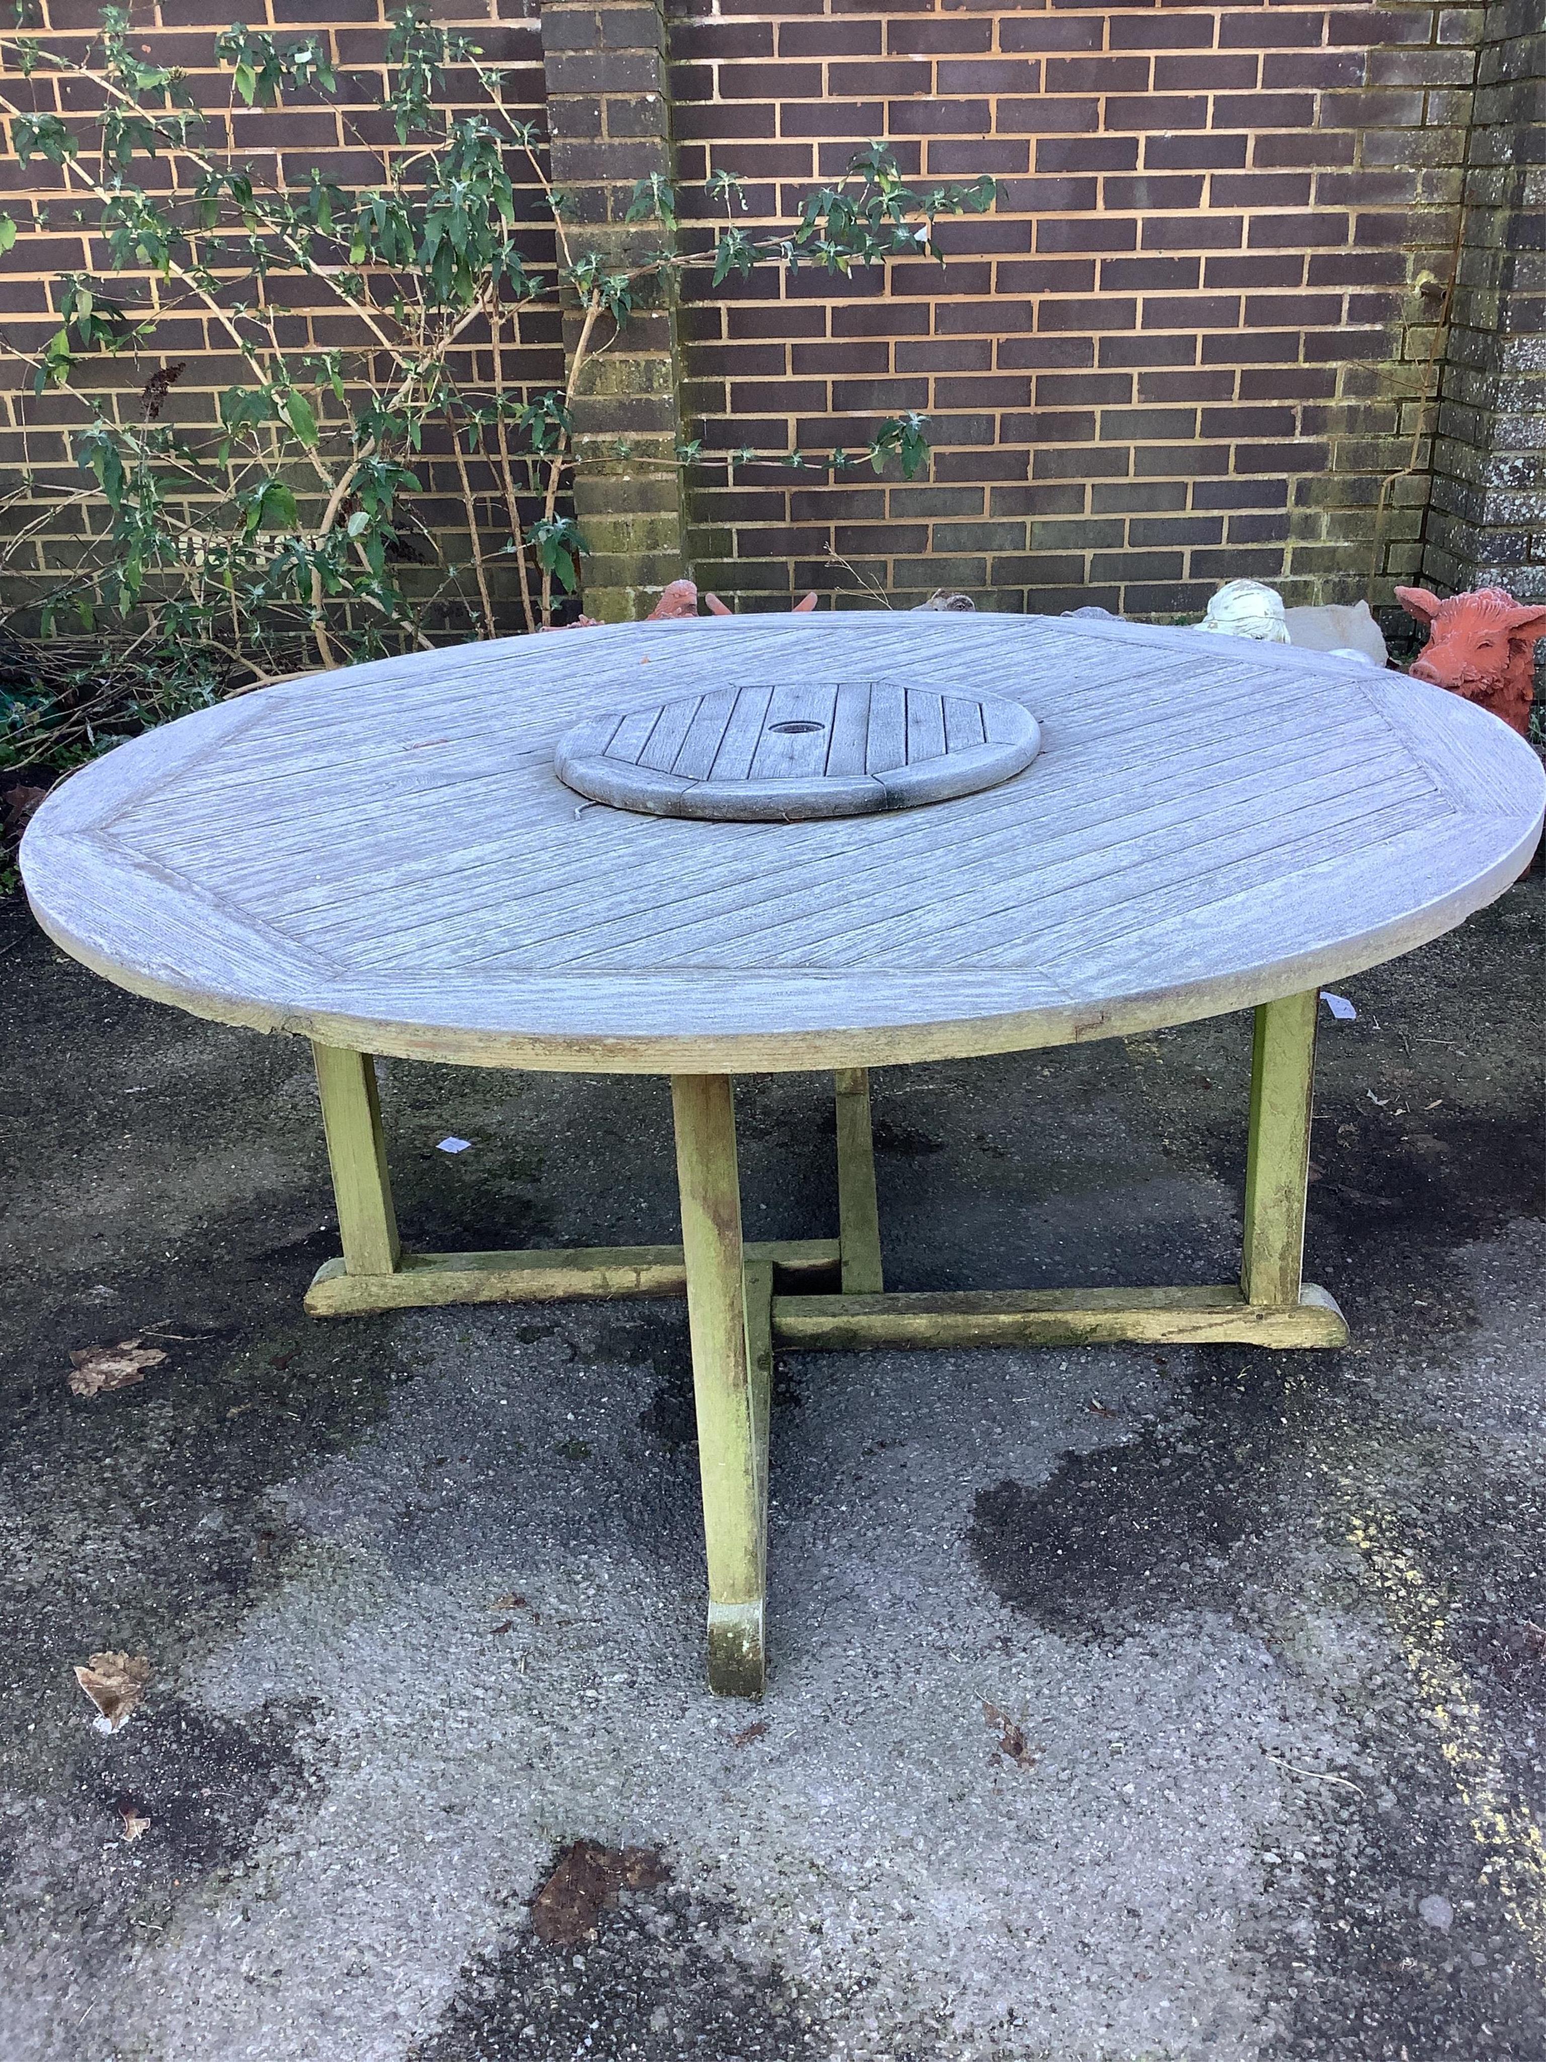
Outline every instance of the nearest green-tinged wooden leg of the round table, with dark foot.
<svg viewBox="0 0 1546 2062">
<path fill-rule="evenodd" d="M 752 1365 L 763 1355 L 748 1342 L 730 1076 L 672 1076 L 672 1111 L 709 1559 L 709 1689 L 721 1697 L 759 1697 L 765 1676 L 767 1404 L 765 1377 Z M 771 1268 L 767 1276 L 771 1301 Z M 771 1344 L 767 1363 L 771 1367 Z"/>
</svg>

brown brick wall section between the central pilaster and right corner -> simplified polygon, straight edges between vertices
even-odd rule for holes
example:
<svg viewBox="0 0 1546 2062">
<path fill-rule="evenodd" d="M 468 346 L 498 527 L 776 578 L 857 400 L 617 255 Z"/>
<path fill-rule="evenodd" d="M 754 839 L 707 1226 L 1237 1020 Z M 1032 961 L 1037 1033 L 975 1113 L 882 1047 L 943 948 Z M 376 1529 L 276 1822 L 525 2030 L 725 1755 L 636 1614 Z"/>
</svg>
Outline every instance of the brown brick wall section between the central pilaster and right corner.
<svg viewBox="0 0 1546 2062">
<path fill-rule="evenodd" d="M 1414 573 L 1420 470 L 1379 544 L 1375 511 L 1429 377 L 1480 8 L 672 4 L 684 181 L 744 171 L 773 217 L 886 136 L 1006 184 L 944 227 L 942 274 L 695 293 L 709 445 L 851 445 L 901 408 L 938 445 L 928 483 L 701 487 L 699 577 L 851 588 L 831 548 L 913 596 L 1165 614 L 1235 575 L 1309 600 Z"/>
</svg>

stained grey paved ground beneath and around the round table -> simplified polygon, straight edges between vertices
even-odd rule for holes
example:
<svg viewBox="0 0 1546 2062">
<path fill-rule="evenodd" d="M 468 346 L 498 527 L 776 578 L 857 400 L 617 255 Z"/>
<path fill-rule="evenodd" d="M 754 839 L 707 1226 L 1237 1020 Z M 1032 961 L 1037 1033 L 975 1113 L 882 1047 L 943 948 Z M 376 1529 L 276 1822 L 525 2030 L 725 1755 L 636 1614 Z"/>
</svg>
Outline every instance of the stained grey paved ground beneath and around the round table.
<svg viewBox="0 0 1546 2062">
<path fill-rule="evenodd" d="M 305 1047 L 2 907 L 6 2062 L 1540 2062 L 1544 916 L 1323 1025 L 1346 1353 L 783 1357 L 732 1705 L 682 1307 L 303 1318 Z M 1226 1281 L 1247 1060 L 876 1074 L 890 1285 Z M 662 1083 L 383 1101 L 418 1248 L 674 1235 Z M 740 1118 L 752 1235 L 829 1231 L 827 1083 Z M 155 1670 L 111 1736 L 99 1650 Z M 670 1878 L 544 1944 L 577 1839 Z"/>
</svg>

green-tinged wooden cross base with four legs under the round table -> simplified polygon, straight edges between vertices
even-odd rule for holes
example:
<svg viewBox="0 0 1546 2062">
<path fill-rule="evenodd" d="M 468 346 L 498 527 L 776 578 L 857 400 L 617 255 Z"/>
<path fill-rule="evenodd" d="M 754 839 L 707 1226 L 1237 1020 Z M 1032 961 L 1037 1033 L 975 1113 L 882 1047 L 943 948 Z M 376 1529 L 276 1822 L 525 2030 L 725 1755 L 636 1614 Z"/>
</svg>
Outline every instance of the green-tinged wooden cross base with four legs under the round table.
<svg viewBox="0 0 1546 2062">
<path fill-rule="evenodd" d="M 1239 1287 L 989 1289 L 886 1295 L 870 1080 L 837 1074 L 837 1239 L 742 1243 L 734 1087 L 672 1078 L 680 1245 L 404 1254 L 375 1066 L 317 1045 L 342 1258 L 305 1297 L 315 1318 L 449 1303 L 686 1295 L 709 1573 L 709 1687 L 757 1697 L 767 1672 L 767 1431 L 773 1346 L 1342 1346 L 1336 1301 L 1303 1281 L 1317 992 L 1255 1012 Z M 839 1291 L 839 1293 L 833 1293 Z"/>
</svg>

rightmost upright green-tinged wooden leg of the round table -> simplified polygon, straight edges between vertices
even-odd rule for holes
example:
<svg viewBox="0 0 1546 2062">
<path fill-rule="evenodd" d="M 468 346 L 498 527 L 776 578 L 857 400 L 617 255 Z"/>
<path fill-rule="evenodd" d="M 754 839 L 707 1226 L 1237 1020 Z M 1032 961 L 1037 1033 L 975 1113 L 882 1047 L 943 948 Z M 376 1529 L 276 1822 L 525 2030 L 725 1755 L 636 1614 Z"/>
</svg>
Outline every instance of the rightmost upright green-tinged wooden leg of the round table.
<svg viewBox="0 0 1546 2062">
<path fill-rule="evenodd" d="M 1317 1012 L 1313 988 L 1255 1012 L 1241 1264 L 1247 1303 L 1299 1303 Z"/>
</svg>

